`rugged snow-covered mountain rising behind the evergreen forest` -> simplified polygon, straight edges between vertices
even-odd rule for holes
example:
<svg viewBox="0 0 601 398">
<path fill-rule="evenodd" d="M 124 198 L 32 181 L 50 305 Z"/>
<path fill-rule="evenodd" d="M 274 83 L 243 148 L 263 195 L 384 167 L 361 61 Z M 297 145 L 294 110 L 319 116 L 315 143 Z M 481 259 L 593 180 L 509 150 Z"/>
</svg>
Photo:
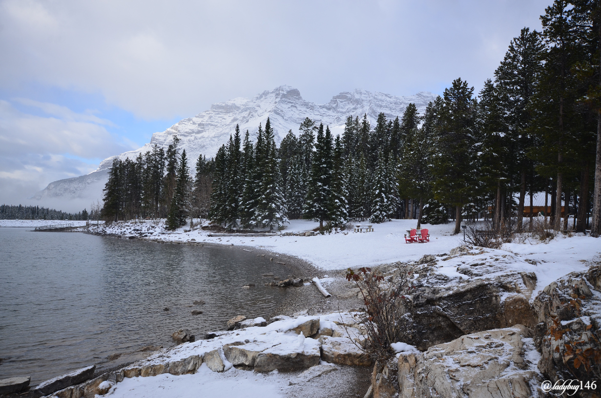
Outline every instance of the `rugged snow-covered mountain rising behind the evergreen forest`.
<svg viewBox="0 0 601 398">
<path fill-rule="evenodd" d="M 135 151 L 121 153 L 118 158 L 135 158 L 139 153 L 150 150 L 154 144 L 166 148 L 177 134 L 181 139 L 180 147 L 185 148 L 191 165 L 198 155 L 207 158 L 215 156 L 218 148 L 225 144 L 234 132 L 236 124 L 240 131 L 248 130 L 256 136 L 259 123 L 263 126 L 267 117 L 275 132 L 276 143 L 292 130 L 298 133 L 299 124 L 309 117 L 318 124 L 329 125 L 334 134 L 342 133 L 344 123 L 349 115 L 361 118 L 367 114 L 372 126 L 377 115 L 384 112 L 386 117 L 401 117 L 409 103 L 415 103 L 420 113 L 424 112 L 435 95 L 422 91 L 413 96 L 395 97 L 384 93 L 371 93 L 365 90 L 343 92 L 332 97 L 330 102 L 316 104 L 305 101 L 296 88 L 282 85 L 272 91 L 263 91 L 252 99 L 236 98 L 226 102 L 215 103 L 209 111 L 201 112 L 195 117 L 186 118 L 175 123 L 163 132 L 154 133 L 150 142 Z M 102 188 L 106 181 L 106 169 L 111 167 L 112 159 L 100 162 L 99 168 L 87 176 L 59 180 L 50 183 L 33 198 L 86 198 L 93 201 L 102 197 Z"/>
</svg>

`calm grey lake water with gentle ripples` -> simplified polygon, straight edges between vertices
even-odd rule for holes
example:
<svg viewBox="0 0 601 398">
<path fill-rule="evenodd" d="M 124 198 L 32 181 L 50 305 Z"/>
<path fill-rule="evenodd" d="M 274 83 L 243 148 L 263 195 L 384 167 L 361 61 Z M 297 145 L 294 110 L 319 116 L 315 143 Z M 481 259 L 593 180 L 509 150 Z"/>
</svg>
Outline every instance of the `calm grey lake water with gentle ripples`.
<svg viewBox="0 0 601 398">
<path fill-rule="evenodd" d="M 236 246 L 30 229 L 0 228 L 0 379 L 31 376 L 32 385 L 139 359 L 132 353 L 172 346 L 181 328 L 198 338 L 238 314 L 266 317 L 286 293 L 261 274 L 291 273 Z M 248 282 L 256 287 L 242 289 Z M 194 300 L 206 304 L 190 307 Z M 107 361 L 112 354 L 122 355 Z"/>
</svg>

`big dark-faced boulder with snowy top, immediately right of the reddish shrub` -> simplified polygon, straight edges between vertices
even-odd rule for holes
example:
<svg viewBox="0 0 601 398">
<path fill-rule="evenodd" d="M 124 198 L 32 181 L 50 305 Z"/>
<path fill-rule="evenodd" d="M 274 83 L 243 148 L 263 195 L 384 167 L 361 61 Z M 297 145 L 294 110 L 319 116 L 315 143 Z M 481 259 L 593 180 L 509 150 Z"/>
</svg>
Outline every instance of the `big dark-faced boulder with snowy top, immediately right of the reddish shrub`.
<svg viewBox="0 0 601 398">
<path fill-rule="evenodd" d="M 515 271 L 516 262 L 523 260 L 466 246 L 453 254 L 439 263 L 407 266 L 415 275 L 415 290 L 400 304 L 400 311 L 408 313 L 401 341 L 424 351 L 488 329 L 516 324 L 534 328 L 537 319 L 530 298 L 536 276 Z"/>
</svg>

